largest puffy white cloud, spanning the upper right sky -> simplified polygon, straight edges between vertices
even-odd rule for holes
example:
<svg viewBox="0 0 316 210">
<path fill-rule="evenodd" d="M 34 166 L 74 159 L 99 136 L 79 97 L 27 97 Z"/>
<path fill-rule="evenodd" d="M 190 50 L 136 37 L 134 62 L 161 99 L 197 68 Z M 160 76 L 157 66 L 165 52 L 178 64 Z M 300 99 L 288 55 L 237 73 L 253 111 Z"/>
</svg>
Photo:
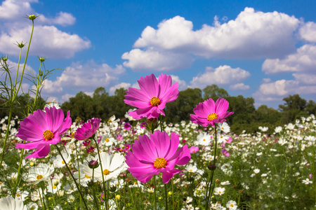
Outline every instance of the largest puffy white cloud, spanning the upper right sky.
<svg viewBox="0 0 316 210">
<path fill-rule="evenodd" d="M 213 26 L 203 25 L 202 29 L 194 31 L 191 21 L 176 16 L 160 22 L 158 29 L 146 27 L 134 44 L 135 48 L 146 50 L 134 49 L 124 53 L 122 58 L 129 59 L 124 65 L 131 69 L 159 64 L 159 69 L 168 70 L 173 67 L 168 62 L 172 57 L 164 57 L 166 65 L 159 60 L 162 55 L 171 53 L 206 58 L 275 58 L 295 50 L 293 34 L 299 23 L 300 20 L 284 13 L 245 8 L 235 20 L 220 24 L 215 18 Z"/>
</svg>

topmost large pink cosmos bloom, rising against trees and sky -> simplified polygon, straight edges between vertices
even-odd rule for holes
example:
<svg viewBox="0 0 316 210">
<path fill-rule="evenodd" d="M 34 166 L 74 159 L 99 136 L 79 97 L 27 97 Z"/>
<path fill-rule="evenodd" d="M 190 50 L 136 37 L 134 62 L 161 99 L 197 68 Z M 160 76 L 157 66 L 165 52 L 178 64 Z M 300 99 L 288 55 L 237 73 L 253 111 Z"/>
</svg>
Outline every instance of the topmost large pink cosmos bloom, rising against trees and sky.
<svg viewBox="0 0 316 210">
<path fill-rule="evenodd" d="M 138 80 L 140 90 L 129 87 L 126 91 L 124 102 L 138 109 L 129 112 L 129 116 L 136 120 L 142 118 L 158 118 L 159 114 L 164 116 L 166 103 L 173 102 L 178 98 L 178 83 L 172 85 L 171 76 L 161 74 L 159 80 L 152 73 Z"/>
</svg>

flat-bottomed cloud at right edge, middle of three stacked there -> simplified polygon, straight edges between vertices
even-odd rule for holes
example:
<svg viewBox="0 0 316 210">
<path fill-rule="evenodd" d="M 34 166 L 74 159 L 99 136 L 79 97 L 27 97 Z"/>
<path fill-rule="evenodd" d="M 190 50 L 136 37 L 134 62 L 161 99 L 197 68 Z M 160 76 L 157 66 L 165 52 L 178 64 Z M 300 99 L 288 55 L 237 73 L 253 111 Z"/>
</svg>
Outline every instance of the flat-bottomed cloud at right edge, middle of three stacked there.
<svg viewBox="0 0 316 210">
<path fill-rule="evenodd" d="M 316 45 L 306 44 L 284 59 L 266 59 L 262 70 L 265 73 L 312 72 L 316 70 Z"/>
</svg>

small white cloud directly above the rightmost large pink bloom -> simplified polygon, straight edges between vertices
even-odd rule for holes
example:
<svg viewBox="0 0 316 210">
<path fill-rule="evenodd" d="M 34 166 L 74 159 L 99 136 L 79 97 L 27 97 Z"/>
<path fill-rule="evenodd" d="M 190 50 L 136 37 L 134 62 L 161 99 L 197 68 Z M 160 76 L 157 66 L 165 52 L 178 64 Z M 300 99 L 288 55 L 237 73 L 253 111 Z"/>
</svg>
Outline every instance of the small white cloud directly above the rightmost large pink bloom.
<svg viewBox="0 0 316 210">
<path fill-rule="evenodd" d="M 190 82 L 190 86 L 204 88 L 206 85 L 216 84 L 216 85 L 231 85 L 234 88 L 242 87 L 245 88 L 246 85 L 239 84 L 246 78 L 249 78 L 250 73 L 244 69 L 235 68 L 233 69 L 230 66 L 218 66 L 218 68 L 213 69 L 212 67 L 206 67 L 205 73 L 202 73 L 199 76 L 196 76 Z M 240 90 L 240 89 L 239 89 Z M 245 90 L 245 89 L 242 89 Z"/>
</svg>

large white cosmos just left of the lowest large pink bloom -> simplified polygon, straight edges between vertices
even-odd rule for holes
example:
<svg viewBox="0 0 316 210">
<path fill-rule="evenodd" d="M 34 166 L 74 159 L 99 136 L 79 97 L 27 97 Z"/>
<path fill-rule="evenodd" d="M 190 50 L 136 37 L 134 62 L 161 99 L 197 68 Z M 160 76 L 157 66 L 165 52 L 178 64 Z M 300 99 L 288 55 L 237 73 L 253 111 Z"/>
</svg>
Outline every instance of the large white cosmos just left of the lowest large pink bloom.
<svg viewBox="0 0 316 210">
<path fill-rule="evenodd" d="M 114 155 L 109 153 L 100 153 L 100 165 L 102 165 L 103 172 L 101 171 L 101 167 L 95 169 L 94 176 L 99 181 L 103 181 L 102 176 L 104 177 L 104 181 L 110 179 L 117 179 L 117 176 L 121 174 L 121 172 L 125 172 L 127 169 L 127 165 L 125 163 L 124 155 L 120 153 L 115 153 Z"/>
</svg>

